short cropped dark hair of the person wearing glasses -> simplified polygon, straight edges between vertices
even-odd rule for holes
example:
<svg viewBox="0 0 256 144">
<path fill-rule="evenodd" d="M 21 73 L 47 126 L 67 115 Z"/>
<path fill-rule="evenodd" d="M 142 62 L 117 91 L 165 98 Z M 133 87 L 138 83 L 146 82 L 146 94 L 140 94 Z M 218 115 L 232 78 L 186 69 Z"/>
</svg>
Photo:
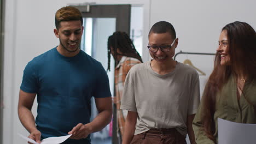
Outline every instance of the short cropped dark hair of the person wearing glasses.
<svg viewBox="0 0 256 144">
<path fill-rule="evenodd" d="M 159 21 L 156 22 L 150 29 L 148 33 L 148 37 L 151 33 L 170 33 L 173 37 L 173 39 L 176 39 L 176 32 L 174 27 L 170 22 L 167 21 Z"/>
</svg>

